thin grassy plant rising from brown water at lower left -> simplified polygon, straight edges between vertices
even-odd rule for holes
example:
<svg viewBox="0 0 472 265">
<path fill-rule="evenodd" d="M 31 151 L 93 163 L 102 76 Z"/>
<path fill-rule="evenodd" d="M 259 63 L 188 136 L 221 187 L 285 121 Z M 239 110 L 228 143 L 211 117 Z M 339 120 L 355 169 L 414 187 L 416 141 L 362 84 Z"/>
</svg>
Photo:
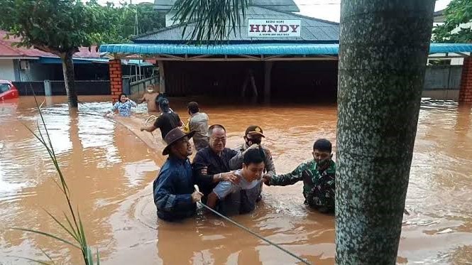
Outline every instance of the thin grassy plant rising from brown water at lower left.
<svg viewBox="0 0 472 265">
<path fill-rule="evenodd" d="M 34 94 L 34 92 L 33 92 L 33 94 Z M 45 212 L 47 212 L 48 215 L 51 218 L 53 218 L 53 220 L 56 222 L 56 224 L 60 225 L 60 227 L 62 227 L 62 229 L 64 229 L 67 232 L 67 234 L 70 234 L 70 236 L 74 240 L 71 242 L 70 240 L 57 237 L 54 234 L 50 234 L 48 232 L 41 232 L 41 231 L 38 231 L 38 230 L 35 230 L 35 229 L 25 229 L 25 228 L 18 228 L 18 227 L 13 227 L 13 229 L 21 230 L 21 231 L 24 231 L 24 232 L 33 232 L 35 234 L 41 234 L 43 236 L 56 239 L 56 240 L 58 240 L 60 242 L 63 242 L 65 244 L 69 244 L 72 247 L 80 249 L 80 251 L 82 252 L 82 257 L 84 259 L 84 264 L 94 265 L 94 259 L 93 259 L 94 254 L 92 253 L 91 247 L 89 247 L 89 245 L 87 244 L 87 238 L 85 237 L 85 232 L 84 232 L 84 225 L 82 224 L 82 220 L 81 220 L 80 215 L 79 215 L 79 210 L 78 210 L 78 208 L 77 208 L 77 210 L 74 210 L 74 208 L 72 207 L 72 202 L 70 200 L 70 190 L 67 187 L 67 183 L 65 181 L 64 175 L 62 175 L 62 171 L 60 170 L 59 163 L 57 162 L 57 158 L 55 156 L 53 144 L 51 142 L 49 132 L 48 132 L 48 129 L 46 128 L 46 124 L 45 124 L 45 121 L 44 121 L 44 118 L 43 118 L 43 113 L 41 112 L 41 108 L 40 108 L 40 105 L 38 104 L 38 100 L 36 99 L 36 97 L 35 97 L 35 103 L 36 103 L 36 108 L 38 109 L 38 112 L 39 112 L 39 115 L 40 115 L 40 118 L 41 118 L 41 124 L 39 124 L 39 122 L 36 121 L 36 127 L 38 128 L 38 133 L 35 133 L 26 124 L 23 124 L 23 125 L 26 126 L 26 128 L 29 131 L 31 131 L 31 134 L 33 134 L 36 137 L 36 139 L 38 139 L 38 141 L 40 141 L 40 143 L 43 144 L 43 146 L 48 151 L 49 157 L 50 157 L 51 161 L 53 161 L 53 163 L 54 163 L 55 170 L 57 171 L 57 174 L 59 175 L 59 180 L 60 180 L 60 183 L 58 183 L 57 180 L 54 180 L 54 182 L 57 184 L 57 186 L 60 188 L 60 190 L 64 194 L 65 200 L 67 201 L 67 206 L 69 208 L 68 213 L 63 212 L 65 221 L 62 221 L 62 222 L 60 220 L 58 220 L 57 217 L 55 217 L 50 212 L 48 212 L 48 210 L 45 210 Z M 40 125 L 42 125 L 43 128 L 44 128 L 44 131 L 45 131 L 44 134 L 41 132 Z M 46 252 L 44 252 L 42 249 L 41 249 L 41 251 L 54 264 L 53 259 L 51 259 L 51 257 Z M 21 257 L 21 258 L 22 259 L 28 259 L 28 258 L 24 258 L 24 257 Z M 35 259 L 28 259 L 28 260 L 35 261 L 35 262 L 38 262 L 40 264 L 48 264 L 44 261 L 38 261 L 38 260 L 35 260 Z M 96 262 L 97 262 L 96 263 L 97 265 L 100 264 L 98 250 L 97 250 L 97 260 L 96 260 Z"/>
</svg>

